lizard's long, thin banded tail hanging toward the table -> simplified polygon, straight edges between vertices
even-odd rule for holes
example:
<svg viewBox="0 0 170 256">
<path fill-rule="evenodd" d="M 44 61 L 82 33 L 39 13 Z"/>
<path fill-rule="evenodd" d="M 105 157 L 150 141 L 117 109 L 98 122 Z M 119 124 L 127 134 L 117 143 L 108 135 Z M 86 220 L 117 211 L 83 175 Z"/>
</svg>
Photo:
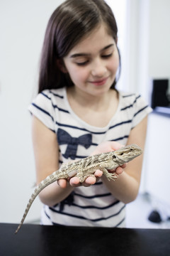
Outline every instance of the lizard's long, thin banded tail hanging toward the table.
<svg viewBox="0 0 170 256">
<path fill-rule="evenodd" d="M 59 178 L 56 178 L 55 176 L 56 171 L 51 174 L 50 176 L 47 176 L 45 180 L 41 181 L 40 184 L 35 188 L 35 191 L 32 193 L 30 200 L 28 201 L 28 204 L 26 206 L 26 210 L 23 213 L 23 218 L 21 219 L 21 223 L 18 225 L 18 228 L 15 231 L 15 234 L 18 233 L 21 226 L 23 225 L 24 220 L 26 219 L 26 215 L 28 214 L 28 211 L 30 210 L 30 206 L 32 206 L 33 201 L 38 196 L 38 194 L 44 189 L 46 186 L 50 185 L 51 183 L 57 181 Z"/>
</svg>

